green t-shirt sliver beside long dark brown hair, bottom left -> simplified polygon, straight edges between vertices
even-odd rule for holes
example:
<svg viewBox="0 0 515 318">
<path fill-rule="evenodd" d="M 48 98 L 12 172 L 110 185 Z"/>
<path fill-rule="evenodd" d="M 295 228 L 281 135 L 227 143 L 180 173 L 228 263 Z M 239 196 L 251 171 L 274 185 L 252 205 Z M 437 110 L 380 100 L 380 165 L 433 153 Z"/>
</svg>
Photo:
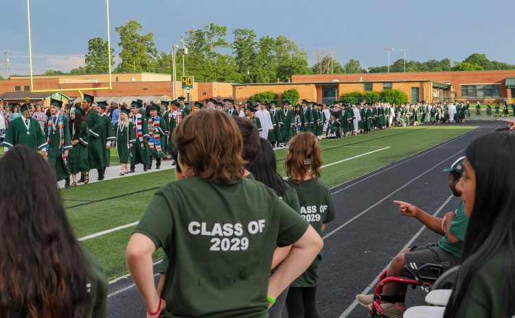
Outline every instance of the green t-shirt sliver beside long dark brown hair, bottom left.
<svg viewBox="0 0 515 318">
<path fill-rule="evenodd" d="M 107 291 L 109 284 L 102 265 L 95 258 L 95 255 L 82 243 L 84 260 L 89 263 L 91 269 L 91 282 L 88 283 L 89 293 L 89 316 L 92 318 L 107 317 Z"/>
</svg>

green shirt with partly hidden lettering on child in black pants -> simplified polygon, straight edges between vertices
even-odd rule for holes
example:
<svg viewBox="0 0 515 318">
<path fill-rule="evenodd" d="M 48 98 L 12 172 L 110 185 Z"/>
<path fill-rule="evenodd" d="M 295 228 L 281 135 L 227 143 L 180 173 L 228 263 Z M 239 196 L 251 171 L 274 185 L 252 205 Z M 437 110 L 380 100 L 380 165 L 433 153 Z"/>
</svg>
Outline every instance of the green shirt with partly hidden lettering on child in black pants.
<svg viewBox="0 0 515 318">
<path fill-rule="evenodd" d="M 319 179 L 302 181 L 299 185 L 295 180 L 288 181 L 297 192 L 300 203 L 300 214 L 310 225 L 322 235 L 322 225 L 336 218 L 332 197 L 328 186 Z M 319 280 L 319 262 L 322 260 L 322 251 L 314 259 L 308 269 L 300 275 L 291 287 L 314 287 Z"/>
</svg>

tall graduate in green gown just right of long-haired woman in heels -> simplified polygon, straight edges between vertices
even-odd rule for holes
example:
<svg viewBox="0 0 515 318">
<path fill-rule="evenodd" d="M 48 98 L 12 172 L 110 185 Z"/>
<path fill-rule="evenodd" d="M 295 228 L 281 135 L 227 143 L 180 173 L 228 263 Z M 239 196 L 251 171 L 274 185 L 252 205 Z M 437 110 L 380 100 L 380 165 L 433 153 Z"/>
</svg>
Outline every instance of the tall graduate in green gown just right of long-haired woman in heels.
<svg viewBox="0 0 515 318">
<path fill-rule="evenodd" d="M 98 180 L 104 180 L 104 157 L 102 149 L 104 145 L 100 139 L 100 130 L 102 129 L 102 119 L 96 109 L 93 109 L 94 98 L 91 95 L 84 94 L 84 104 L 82 110 L 86 118 L 86 124 L 89 130 L 88 154 L 89 168 L 96 169 L 98 172 Z M 80 180 L 79 180 L 80 182 Z"/>
</svg>

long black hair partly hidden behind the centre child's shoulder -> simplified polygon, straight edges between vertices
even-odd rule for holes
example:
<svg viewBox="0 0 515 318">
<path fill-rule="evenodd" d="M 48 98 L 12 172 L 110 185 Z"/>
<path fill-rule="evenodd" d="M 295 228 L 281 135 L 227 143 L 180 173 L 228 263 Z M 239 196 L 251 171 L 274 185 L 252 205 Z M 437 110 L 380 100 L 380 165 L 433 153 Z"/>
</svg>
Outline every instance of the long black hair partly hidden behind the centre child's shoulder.
<svg viewBox="0 0 515 318">
<path fill-rule="evenodd" d="M 277 173 L 277 164 L 275 162 L 275 153 L 268 140 L 260 137 L 260 151 L 255 157 L 251 166 L 247 168 L 254 179 L 264 183 L 268 188 L 272 188 L 277 196 L 286 194 L 286 181 Z"/>
</svg>

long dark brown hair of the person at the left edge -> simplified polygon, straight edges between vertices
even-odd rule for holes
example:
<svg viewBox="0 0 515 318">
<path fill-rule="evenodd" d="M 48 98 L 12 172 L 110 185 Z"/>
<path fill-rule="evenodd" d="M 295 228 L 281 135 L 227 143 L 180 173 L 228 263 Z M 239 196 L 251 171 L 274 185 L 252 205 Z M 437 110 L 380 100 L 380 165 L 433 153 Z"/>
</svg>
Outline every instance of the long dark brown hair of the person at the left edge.
<svg viewBox="0 0 515 318">
<path fill-rule="evenodd" d="M 87 317 L 89 266 L 41 155 L 0 159 L 0 317 Z"/>
</svg>

